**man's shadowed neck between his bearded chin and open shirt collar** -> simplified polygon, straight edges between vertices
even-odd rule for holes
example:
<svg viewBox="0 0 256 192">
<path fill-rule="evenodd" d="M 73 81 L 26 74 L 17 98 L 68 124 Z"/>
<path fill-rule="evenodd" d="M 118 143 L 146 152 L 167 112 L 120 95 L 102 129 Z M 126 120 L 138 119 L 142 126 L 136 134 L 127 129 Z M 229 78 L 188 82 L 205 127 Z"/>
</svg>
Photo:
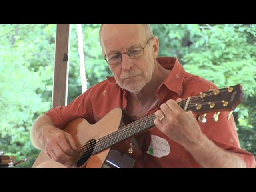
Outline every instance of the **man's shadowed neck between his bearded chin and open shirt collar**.
<svg viewBox="0 0 256 192">
<path fill-rule="evenodd" d="M 138 103 L 156 100 L 156 91 L 169 74 L 170 70 L 163 68 L 157 61 L 155 61 L 155 69 L 150 82 L 148 82 L 139 92 L 130 92 L 132 99 Z"/>
</svg>

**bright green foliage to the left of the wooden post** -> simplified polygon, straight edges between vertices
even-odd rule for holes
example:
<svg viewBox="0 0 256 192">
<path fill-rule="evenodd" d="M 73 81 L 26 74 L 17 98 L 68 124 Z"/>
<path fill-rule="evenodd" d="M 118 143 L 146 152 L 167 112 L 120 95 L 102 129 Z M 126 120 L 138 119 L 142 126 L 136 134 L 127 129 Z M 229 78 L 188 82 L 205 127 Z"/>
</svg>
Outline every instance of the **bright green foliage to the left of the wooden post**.
<svg viewBox="0 0 256 192">
<path fill-rule="evenodd" d="M 0 150 L 17 160 L 30 156 L 20 167 L 31 167 L 38 150 L 29 131 L 51 106 L 56 25 L 0 28 Z"/>
</svg>

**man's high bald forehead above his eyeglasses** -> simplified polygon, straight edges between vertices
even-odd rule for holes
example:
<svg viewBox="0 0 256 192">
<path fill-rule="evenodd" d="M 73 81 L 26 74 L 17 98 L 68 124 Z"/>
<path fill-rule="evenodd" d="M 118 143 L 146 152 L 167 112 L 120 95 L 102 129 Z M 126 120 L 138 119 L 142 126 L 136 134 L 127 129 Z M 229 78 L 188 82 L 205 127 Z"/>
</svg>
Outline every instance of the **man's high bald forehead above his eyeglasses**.
<svg viewBox="0 0 256 192">
<path fill-rule="evenodd" d="M 140 24 L 105 24 L 102 28 L 102 48 L 106 53 L 122 51 L 130 46 L 140 46 L 145 41 L 144 28 Z"/>
</svg>

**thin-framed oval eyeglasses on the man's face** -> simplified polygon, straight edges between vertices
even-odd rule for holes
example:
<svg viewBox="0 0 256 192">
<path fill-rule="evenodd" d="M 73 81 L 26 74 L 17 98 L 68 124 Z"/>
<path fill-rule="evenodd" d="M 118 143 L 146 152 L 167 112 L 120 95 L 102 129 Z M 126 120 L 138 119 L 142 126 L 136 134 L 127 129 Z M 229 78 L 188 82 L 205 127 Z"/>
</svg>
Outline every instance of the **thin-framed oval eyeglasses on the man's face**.
<svg viewBox="0 0 256 192">
<path fill-rule="evenodd" d="M 148 42 L 154 37 L 151 37 L 146 45 L 148 44 Z M 144 54 L 144 49 L 146 47 L 146 45 L 144 47 L 136 47 L 136 48 L 132 48 L 130 49 L 128 52 L 125 52 L 125 53 L 113 53 L 113 54 L 110 54 L 108 56 L 105 55 L 105 60 L 107 61 L 108 64 L 110 65 L 116 65 L 116 64 L 119 64 L 121 61 L 122 61 L 122 55 L 123 54 L 128 54 L 128 56 L 131 58 L 131 59 L 137 59 L 137 58 L 140 58 L 143 54 Z"/>
</svg>

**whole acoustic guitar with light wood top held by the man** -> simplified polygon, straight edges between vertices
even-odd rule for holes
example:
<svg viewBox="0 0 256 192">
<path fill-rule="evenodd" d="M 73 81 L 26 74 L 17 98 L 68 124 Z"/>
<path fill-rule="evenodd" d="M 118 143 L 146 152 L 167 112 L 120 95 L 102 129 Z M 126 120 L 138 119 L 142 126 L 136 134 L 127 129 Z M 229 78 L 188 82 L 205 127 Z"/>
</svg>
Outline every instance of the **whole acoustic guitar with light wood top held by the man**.
<svg viewBox="0 0 256 192">
<path fill-rule="evenodd" d="M 243 97 L 242 86 L 238 84 L 201 92 L 178 102 L 178 105 L 198 114 L 201 122 L 206 120 L 207 112 L 215 112 L 214 119 L 217 121 L 221 111 L 230 111 L 230 118 Z M 84 118 L 72 120 L 63 130 L 73 136 L 78 152 L 68 168 L 132 168 L 142 152 L 131 140 L 154 128 L 155 118 L 155 114 L 150 114 L 134 121 L 121 108 L 115 108 L 96 124 L 89 124 Z M 41 151 L 32 168 L 44 166 L 67 167 L 53 162 Z"/>
</svg>

